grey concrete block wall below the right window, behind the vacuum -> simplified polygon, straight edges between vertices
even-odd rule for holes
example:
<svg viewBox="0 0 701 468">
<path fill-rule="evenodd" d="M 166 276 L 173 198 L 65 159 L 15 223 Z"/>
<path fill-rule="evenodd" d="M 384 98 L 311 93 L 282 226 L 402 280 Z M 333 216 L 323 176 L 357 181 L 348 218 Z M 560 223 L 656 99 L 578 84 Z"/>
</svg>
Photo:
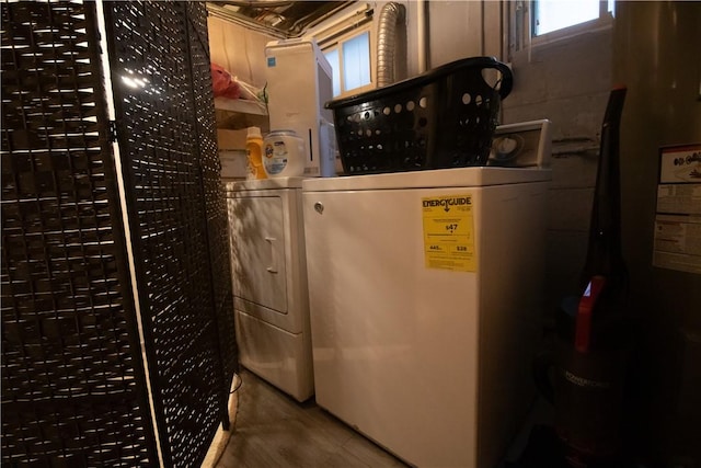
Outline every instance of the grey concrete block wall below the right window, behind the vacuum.
<svg viewBox="0 0 701 468">
<path fill-rule="evenodd" d="M 552 122 L 552 186 L 548 199 L 544 319 L 577 295 L 584 265 L 599 137 L 611 88 L 611 30 L 527 47 L 512 56 L 514 90 L 503 102 L 505 124 Z"/>
</svg>

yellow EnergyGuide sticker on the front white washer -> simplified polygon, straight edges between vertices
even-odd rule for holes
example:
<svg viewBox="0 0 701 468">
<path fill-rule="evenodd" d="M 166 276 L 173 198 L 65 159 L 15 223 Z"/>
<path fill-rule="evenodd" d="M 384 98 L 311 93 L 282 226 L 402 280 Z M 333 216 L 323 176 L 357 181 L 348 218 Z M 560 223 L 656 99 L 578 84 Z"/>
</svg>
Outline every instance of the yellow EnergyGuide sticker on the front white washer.
<svg viewBox="0 0 701 468">
<path fill-rule="evenodd" d="M 472 195 L 422 198 L 427 269 L 476 271 Z"/>
</svg>

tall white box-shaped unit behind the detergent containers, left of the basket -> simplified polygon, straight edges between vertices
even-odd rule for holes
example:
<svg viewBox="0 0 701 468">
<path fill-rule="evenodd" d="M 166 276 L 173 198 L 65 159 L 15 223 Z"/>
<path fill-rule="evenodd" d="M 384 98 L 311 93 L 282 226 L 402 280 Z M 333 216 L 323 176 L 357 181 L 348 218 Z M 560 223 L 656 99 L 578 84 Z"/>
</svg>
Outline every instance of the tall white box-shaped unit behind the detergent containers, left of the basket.
<svg viewBox="0 0 701 468">
<path fill-rule="evenodd" d="M 271 129 L 302 137 L 304 176 L 335 175 L 331 65 L 313 38 L 273 41 L 265 57 Z"/>
</svg>

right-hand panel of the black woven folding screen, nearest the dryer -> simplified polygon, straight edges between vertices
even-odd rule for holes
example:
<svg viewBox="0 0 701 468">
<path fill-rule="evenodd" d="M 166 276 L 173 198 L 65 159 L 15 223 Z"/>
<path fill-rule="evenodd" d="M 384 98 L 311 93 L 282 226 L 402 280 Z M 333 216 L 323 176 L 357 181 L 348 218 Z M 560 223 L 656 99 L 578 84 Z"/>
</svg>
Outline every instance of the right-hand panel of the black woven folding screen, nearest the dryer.
<svg viewBox="0 0 701 468">
<path fill-rule="evenodd" d="M 222 372 L 221 355 L 234 340 L 206 10 L 106 5 L 143 333 L 158 343 L 147 358 L 163 456 L 193 466 L 226 416 L 216 409 L 226 409 L 233 362 Z"/>
</svg>

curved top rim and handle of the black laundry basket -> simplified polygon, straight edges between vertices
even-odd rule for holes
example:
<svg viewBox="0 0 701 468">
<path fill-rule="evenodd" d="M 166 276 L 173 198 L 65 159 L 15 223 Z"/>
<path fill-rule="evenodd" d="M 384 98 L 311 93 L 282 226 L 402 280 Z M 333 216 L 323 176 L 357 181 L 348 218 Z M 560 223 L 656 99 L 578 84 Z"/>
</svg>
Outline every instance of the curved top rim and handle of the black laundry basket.
<svg viewBox="0 0 701 468">
<path fill-rule="evenodd" d="M 398 81 L 383 88 L 378 88 L 371 91 L 364 92 L 361 94 L 352 95 L 349 98 L 329 101 L 324 106 L 326 109 L 336 109 L 345 107 L 348 105 L 363 104 L 368 101 L 382 99 L 394 92 L 402 92 L 410 88 L 424 85 L 432 81 L 436 81 L 437 79 L 443 78 L 446 75 L 455 73 L 456 71 L 464 68 L 475 68 L 480 71 L 487 68 L 498 70 L 502 73 L 502 79 L 497 81 L 497 84 L 499 87 L 499 96 L 504 99 L 512 92 L 512 88 L 514 85 L 514 75 L 512 73 L 512 69 L 508 68 L 506 64 L 498 61 L 494 57 L 469 57 L 451 61 L 450 64 L 441 65 L 440 67 L 436 67 L 414 78 Z"/>
</svg>

